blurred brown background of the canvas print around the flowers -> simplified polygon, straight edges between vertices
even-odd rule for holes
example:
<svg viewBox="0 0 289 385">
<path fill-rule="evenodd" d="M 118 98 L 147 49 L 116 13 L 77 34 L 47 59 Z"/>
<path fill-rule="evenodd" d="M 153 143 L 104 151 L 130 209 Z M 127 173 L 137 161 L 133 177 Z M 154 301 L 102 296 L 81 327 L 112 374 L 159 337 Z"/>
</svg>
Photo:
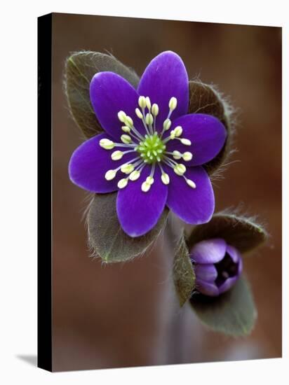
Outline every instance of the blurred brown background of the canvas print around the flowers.
<svg viewBox="0 0 289 385">
<path fill-rule="evenodd" d="M 163 239 L 126 264 L 88 258 L 86 193 L 67 175 L 81 135 L 62 89 L 65 58 L 76 50 L 107 50 L 139 75 L 159 52 L 174 50 L 190 78 L 231 98 L 238 117 L 231 160 L 241 162 L 215 183 L 216 211 L 243 202 L 271 234 L 245 261 L 259 313 L 250 337 L 215 334 L 189 305 L 180 310 Z M 280 28 L 54 14 L 53 155 L 54 370 L 281 356 Z"/>
</svg>

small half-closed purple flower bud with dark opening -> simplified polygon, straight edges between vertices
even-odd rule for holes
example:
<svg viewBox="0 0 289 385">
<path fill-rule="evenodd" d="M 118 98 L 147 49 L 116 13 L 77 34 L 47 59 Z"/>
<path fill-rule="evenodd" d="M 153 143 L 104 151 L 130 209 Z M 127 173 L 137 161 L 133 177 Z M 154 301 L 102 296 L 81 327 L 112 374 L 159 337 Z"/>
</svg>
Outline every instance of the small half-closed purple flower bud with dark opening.
<svg viewBox="0 0 289 385">
<path fill-rule="evenodd" d="M 224 239 L 197 243 L 190 253 L 196 274 L 196 290 L 217 296 L 229 290 L 242 272 L 241 254 Z"/>
</svg>

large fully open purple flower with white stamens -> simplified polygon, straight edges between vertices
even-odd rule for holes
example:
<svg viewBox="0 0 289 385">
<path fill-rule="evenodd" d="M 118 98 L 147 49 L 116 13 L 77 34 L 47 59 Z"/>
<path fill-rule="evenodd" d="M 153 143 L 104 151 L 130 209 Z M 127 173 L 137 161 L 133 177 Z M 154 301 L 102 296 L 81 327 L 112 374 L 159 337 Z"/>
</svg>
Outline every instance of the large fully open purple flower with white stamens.
<svg viewBox="0 0 289 385">
<path fill-rule="evenodd" d="M 187 114 L 182 59 L 170 51 L 156 56 L 137 90 L 116 73 L 97 73 L 90 101 L 105 133 L 76 148 L 72 182 L 93 193 L 118 190 L 117 215 L 131 237 L 151 230 L 165 206 L 186 223 L 210 221 L 215 199 L 201 165 L 220 152 L 227 132 L 213 116 Z"/>
</svg>

